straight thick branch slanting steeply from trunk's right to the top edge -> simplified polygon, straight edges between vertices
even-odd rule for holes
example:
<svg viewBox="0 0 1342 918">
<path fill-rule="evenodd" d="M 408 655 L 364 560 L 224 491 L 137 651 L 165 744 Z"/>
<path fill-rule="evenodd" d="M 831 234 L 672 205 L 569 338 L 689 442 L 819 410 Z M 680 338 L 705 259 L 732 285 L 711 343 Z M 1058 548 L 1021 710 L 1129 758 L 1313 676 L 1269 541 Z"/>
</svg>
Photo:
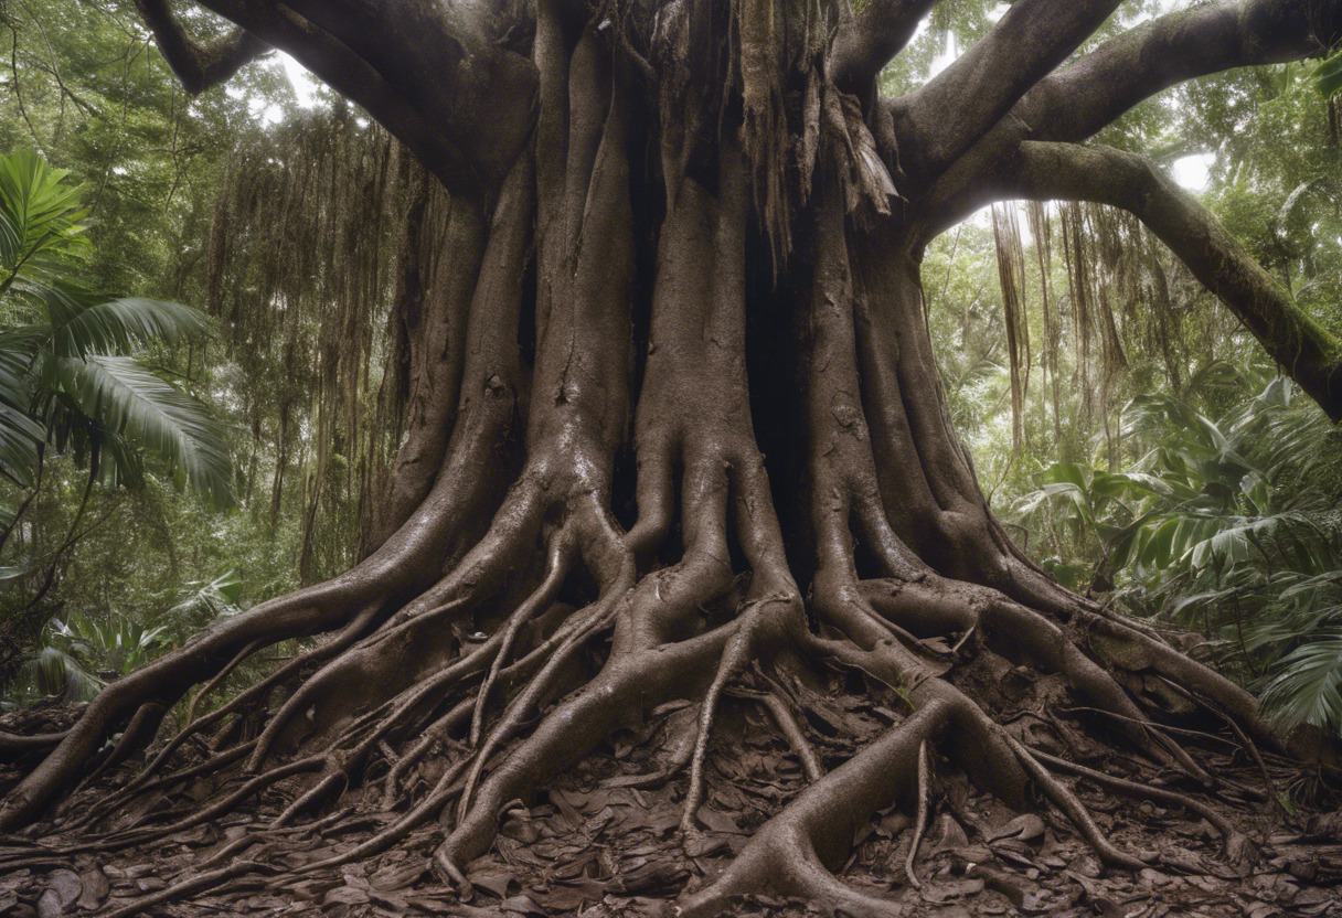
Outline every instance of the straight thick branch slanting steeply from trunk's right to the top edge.
<svg viewBox="0 0 1342 918">
<path fill-rule="evenodd" d="M 1115 7 L 1118 0 L 1019 0 L 946 70 L 890 101 L 900 166 L 914 187 L 958 160 Z"/>
</svg>

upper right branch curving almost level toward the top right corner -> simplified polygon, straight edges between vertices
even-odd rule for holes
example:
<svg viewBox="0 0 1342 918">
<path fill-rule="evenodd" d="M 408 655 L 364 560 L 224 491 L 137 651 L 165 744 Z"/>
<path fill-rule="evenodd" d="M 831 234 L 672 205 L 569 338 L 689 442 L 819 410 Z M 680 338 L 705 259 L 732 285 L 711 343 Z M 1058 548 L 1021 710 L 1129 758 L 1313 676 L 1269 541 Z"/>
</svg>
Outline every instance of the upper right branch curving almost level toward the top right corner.
<svg viewBox="0 0 1342 918">
<path fill-rule="evenodd" d="M 1342 39 L 1342 0 L 1219 0 L 1153 19 L 1040 81 L 1012 113 L 1032 140 L 1082 141 L 1197 76 L 1299 60 Z"/>
</svg>

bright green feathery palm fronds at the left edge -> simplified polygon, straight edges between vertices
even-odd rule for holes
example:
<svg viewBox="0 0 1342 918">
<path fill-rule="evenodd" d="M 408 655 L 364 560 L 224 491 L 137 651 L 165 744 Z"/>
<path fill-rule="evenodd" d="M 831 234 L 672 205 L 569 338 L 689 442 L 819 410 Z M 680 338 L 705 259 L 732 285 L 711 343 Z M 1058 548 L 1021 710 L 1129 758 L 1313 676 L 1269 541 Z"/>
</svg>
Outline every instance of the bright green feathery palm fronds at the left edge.
<svg viewBox="0 0 1342 918">
<path fill-rule="evenodd" d="M 67 174 L 30 152 L 0 157 L 0 471 L 32 484 L 54 443 L 87 455 L 91 475 L 133 483 L 136 450 L 148 448 L 227 503 L 232 470 L 216 421 L 127 356 L 208 325 L 178 303 L 107 299 L 74 275 L 89 250 L 87 213 Z"/>
</svg>

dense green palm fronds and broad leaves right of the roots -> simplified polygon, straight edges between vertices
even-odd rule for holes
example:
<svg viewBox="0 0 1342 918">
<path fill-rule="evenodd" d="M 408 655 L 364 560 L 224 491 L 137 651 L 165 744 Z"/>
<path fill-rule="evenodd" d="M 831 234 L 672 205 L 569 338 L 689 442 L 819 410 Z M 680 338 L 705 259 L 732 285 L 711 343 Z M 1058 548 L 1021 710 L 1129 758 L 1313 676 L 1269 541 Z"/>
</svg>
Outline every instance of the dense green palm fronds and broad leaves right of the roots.
<svg viewBox="0 0 1342 918">
<path fill-rule="evenodd" d="M 1060 546 L 1044 564 L 1063 582 L 1201 631 L 1282 726 L 1342 729 L 1338 436 L 1292 388 L 1216 420 L 1139 396 L 1125 432 L 1153 447 L 1130 470 L 1053 463 L 1015 515 Z"/>
</svg>

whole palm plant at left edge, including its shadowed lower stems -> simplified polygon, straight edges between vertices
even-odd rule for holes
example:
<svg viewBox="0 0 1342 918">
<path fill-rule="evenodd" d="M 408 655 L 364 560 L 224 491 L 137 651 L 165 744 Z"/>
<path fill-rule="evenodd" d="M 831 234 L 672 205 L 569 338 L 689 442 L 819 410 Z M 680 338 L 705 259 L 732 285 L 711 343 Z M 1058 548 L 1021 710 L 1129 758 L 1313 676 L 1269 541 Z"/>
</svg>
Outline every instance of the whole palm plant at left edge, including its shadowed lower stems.
<svg viewBox="0 0 1342 918">
<path fill-rule="evenodd" d="M 145 360 L 152 348 L 201 337 L 208 321 L 83 280 L 91 243 L 82 193 L 36 153 L 0 157 L 0 680 L 58 608 L 52 588 L 91 530 L 97 484 L 138 486 L 152 456 L 211 503 L 232 499 L 221 425 Z M 52 480 L 62 478 L 58 456 L 86 474 L 82 486 Z M 25 513 L 68 493 L 78 497 L 64 534 L 39 538 Z"/>
</svg>

